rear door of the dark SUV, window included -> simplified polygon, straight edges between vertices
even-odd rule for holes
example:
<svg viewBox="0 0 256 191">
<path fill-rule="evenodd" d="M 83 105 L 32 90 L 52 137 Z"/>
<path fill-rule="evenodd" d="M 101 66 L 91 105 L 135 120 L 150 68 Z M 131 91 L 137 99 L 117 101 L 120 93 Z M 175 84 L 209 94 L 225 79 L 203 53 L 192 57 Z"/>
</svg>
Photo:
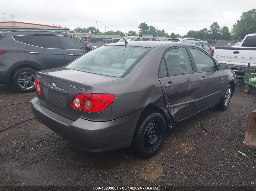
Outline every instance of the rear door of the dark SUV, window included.
<svg viewBox="0 0 256 191">
<path fill-rule="evenodd" d="M 25 48 L 25 55 L 29 62 L 40 65 L 42 69 L 65 65 L 63 51 L 56 35 L 32 35 Z"/>
</svg>

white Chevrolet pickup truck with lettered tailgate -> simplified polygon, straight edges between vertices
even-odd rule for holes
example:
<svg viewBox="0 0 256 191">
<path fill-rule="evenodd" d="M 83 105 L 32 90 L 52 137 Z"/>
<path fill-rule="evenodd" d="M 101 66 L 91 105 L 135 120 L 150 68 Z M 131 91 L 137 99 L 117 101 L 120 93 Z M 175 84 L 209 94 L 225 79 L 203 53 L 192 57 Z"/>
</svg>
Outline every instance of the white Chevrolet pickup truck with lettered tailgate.
<svg viewBox="0 0 256 191">
<path fill-rule="evenodd" d="M 255 73 L 256 69 L 256 33 L 244 37 L 240 46 L 236 47 L 215 47 L 211 54 L 219 63 L 228 64 L 228 68 L 236 75 L 244 73 Z M 250 71 L 247 72 L 248 63 Z"/>
</svg>

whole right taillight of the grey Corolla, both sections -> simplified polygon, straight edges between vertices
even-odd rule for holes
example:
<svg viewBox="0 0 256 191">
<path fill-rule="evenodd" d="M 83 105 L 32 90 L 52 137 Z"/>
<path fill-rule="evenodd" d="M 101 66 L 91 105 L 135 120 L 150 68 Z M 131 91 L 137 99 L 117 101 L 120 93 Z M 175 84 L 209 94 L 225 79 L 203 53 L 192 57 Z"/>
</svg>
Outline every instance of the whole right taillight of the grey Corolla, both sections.
<svg viewBox="0 0 256 191">
<path fill-rule="evenodd" d="M 114 100 L 114 94 L 77 94 L 72 100 L 72 107 L 96 113 L 107 109 Z"/>
</svg>

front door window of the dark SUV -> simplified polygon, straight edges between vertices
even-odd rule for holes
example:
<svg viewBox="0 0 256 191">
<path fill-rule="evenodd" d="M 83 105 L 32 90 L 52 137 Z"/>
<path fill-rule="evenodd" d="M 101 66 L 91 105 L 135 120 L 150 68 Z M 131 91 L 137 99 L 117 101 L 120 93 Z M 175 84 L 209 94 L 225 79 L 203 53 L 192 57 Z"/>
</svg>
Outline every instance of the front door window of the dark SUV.
<svg viewBox="0 0 256 191">
<path fill-rule="evenodd" d="M 72 37 L 59 36 L 62 49 L 86 50 L 86 45 Z"/>
</svg>

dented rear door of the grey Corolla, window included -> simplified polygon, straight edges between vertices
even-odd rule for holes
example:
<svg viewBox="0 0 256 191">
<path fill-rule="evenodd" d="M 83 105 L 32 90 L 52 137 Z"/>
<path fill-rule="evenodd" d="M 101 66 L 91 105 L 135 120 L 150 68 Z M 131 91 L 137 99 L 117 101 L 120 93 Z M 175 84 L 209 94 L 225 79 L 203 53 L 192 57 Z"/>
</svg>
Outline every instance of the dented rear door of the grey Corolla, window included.
<svg viewBox="0 0 256 191">
<path fill-rule="evenodd" d="M 180 121 L 195 113 L 200 79 L 185 47 L 172 48 L 165 52 L 159 68 L 159 80 L 165 106 L 174 121 Z"/>
</svg>

